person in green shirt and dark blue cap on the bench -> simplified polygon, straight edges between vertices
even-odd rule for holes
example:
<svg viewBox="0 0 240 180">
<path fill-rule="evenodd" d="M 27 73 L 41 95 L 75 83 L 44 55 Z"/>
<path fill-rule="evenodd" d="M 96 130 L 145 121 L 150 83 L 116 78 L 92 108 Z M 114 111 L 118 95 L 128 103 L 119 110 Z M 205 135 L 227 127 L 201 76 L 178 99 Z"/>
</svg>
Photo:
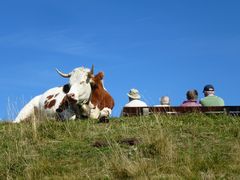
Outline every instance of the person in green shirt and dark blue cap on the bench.
<svg viewBox="0 0 240 180">
<path fill-rule="evenodd" d="M 202 106 L 224 106 L 224 100 L 215 95 L 213 85 L 208 84 L 203 89 L 204 98 L 200 100 Z"/>
</svg>

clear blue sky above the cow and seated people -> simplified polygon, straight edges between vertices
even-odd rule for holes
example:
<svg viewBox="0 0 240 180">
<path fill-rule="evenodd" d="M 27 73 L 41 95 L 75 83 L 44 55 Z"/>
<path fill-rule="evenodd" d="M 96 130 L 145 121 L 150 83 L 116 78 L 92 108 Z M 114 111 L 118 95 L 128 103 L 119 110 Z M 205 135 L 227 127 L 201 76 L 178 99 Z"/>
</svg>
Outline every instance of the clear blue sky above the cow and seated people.
<svg viewBox="0 0 240 180">
<path fill-rule="evenodd" d="M 0 118 L 67 82 L 54 70 L 95 65 L 115 99 L 114 116 L 139 89 L 172 105 L 205 84 L 240 105 L 238 0 L 8 0 L 0 2 Z"/>
</svg>

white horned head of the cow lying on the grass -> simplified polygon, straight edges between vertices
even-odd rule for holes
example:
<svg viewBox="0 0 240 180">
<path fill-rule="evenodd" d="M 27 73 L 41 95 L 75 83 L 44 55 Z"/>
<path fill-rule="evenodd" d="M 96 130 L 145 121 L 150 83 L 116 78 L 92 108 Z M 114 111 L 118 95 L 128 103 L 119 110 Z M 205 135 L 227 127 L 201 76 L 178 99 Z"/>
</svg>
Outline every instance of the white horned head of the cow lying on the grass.
<svg viewBox="0 0 240 180">
<path fill-rule="evenodd" d="M 63 87 L 67 96 L 77 104 L 87 103 L 91 95 L 90 79 L 93 74 L 93 66 L 91 70 L 78 67 L 68 74 L 56 70 L 62 77 L 69 78 L 69 84 Z"/>
</svg>

